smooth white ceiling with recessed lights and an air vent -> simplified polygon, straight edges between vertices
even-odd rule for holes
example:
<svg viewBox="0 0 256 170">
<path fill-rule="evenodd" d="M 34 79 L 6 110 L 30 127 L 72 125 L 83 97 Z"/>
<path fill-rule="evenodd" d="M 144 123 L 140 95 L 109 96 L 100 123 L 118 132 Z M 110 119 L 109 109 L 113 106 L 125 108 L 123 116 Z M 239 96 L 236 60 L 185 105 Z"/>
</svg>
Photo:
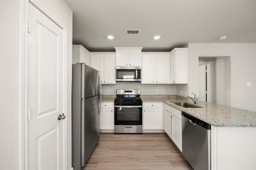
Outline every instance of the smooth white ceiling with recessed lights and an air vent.
<svg viewBox="0 0 256 170">
<path fill-rule="evenodd" d="M 66 1 L 74 12 L 73 43 L 91 51 L 114 51 L 115 46 L 170 51 L 189 42 L 256 43 L 256 0 Z M 141 34 L 127 36 L 125 29 L 140 29 Z M 161 39 L 154 40 L 155 35 Z M 218 40 L 223 35 L 228 39 Z"/>
</svg>

